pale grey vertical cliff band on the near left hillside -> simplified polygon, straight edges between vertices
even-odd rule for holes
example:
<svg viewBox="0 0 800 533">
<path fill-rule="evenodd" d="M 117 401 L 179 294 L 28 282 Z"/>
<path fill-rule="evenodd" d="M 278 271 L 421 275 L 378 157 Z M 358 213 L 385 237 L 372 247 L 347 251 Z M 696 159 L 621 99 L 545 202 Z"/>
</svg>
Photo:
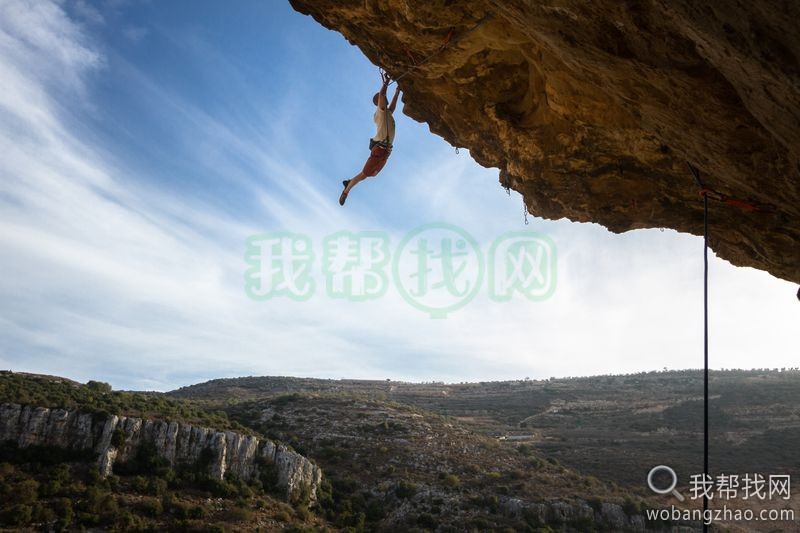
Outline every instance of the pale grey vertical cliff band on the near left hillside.
<svg viewBox="0 0 800 533">
<path fill-rule="evenodd" d="M 103 475 L 112 472 L 115 462 L 136 457 L 145 445 L 171 465 L 207 461 L 209 474 L 219 480 L 228 473 L 253 479 L 259 474 L 257 459 L 263 458 L 275 465 L 278 486 L 286 489 L 288 498 L 307 493 L 313 500 L 322 479 L 319 467 L 283 444 L 178 422 L 5 403 L 0 404 L 0 441 L 91 450 Z"/>
</svg>

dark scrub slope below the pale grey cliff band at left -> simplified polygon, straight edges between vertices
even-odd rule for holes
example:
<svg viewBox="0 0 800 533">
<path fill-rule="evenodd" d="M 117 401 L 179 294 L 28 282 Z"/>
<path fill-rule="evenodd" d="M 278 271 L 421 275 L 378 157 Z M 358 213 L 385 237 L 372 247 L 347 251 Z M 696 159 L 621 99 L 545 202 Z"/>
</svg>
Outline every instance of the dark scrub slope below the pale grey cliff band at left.
<svg viewBox="0 0 800 533">
<path fill-rule="evenodd" d="M 173 470 L 152 450 L 105 479 L 89 459 L 4 443 L 0 528 L 225 531 L 250 524 L 256 515 L 287 529 L 316 520 L 305 505 L 292 509 L 274 498 L 273 487 L 261 481 L 212 480 L 199 473 L 199 465 Z"/>
</svg>

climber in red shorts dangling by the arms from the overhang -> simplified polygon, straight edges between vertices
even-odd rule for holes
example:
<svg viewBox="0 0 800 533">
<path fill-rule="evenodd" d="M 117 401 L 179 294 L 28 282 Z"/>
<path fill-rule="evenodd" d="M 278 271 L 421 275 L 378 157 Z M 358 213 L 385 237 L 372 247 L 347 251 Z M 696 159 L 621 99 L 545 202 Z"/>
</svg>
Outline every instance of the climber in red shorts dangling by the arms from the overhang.
<svg viewBox="0 0 800 533">
<path fill-rule="evenodd" d="M 392 102 L 389 103 L 386 99 L 386 89 L 388 89 L 391 79 L 388 74 L 381 71 L 381 80 L 383 81 L 381 90 L 372 97 L 372 103 L 376 106 L 375 114 L 373 115 L 376 133 L 369 140 L 369 158 L 361 172 L 342 182 L 344 190 L 339 196 L 339 205 L 344 205 L 347 195 L 350 194 L 353 187 L 365 178 L 376 176 L 389 159 L 389 154 L 392 153 L 392 143 L 394 142 L 394 117 L 392 113 L 394 113 L 394 109 L 397 106 L 400 88 L 395 89 Z"/>
</svg>

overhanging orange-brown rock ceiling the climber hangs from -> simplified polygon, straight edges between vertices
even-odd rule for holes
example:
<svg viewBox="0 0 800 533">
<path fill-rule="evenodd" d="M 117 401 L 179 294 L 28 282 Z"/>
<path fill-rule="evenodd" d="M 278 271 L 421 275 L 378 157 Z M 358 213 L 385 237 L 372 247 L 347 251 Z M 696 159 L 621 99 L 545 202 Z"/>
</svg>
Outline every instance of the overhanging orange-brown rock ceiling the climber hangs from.
<svg viewBox="0 0 800 533">
<path fill-rule="evenodd" d="M 800 3 L 290 2 L 394 77 L 452 28 L 399 81 L 404 112 L 499 168 L 531 214 L 701 234 L 689 161 L 758 208 L 710 200 L 712 248 L 800 282 Z"/>
</svg>

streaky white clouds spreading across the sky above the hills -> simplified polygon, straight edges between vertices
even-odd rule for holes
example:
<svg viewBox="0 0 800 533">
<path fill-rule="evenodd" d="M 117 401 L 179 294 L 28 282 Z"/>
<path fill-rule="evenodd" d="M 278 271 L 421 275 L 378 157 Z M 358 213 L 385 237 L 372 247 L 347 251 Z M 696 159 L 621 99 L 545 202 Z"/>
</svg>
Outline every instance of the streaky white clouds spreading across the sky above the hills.
<svg viewBox="0 0 800 533">
<path fill-rule="evenodd" d="M 242 374 L 460 381 L 701 361 L 701 248 L 674 232 L 615 236 L 534 220 L 558 244 L 553 298 L 500 304 L 483 291 L 447 320 L 427 318 L 393 290 L 358 304 L 322 290 L 308 302 L 247 299 L 252 233 L 305 233 L 319 252 L 332 231 L 389 228 L 396 245 L 402 231 L 368 207 L 380 192 L 409 214 L 409 229 L 460 224 L 485 252 L 494 236 L 522 227 L 522 208 L 493 171 L 437 148 L 419 161 L 393 155 L 392 173 L 341 209 L 331 194 L 338 181 L 331 187 L 320 176 L 328 169 L 296 148 L 306 140 L 293 122 L 301 107 L 291 99 L 291 113 L 262 107 L 236 65 L 213 61 L 246 112 L 213 115 L 132 65 L 118 62 L 114 72 L 164 115 L 165 129 L 190 132 L 194 167 L 247 194 L 254 212 L 154 185 L 135 162 L 93 144 L 81 117 L 92 108 L 90 76 L 109 75 L 99 46 L 57 2 L 2 4 L 0 366 L 168 389 Z M 793 292 L 713 260 L 714 366 L 796 363 Z"/>
</svg>

